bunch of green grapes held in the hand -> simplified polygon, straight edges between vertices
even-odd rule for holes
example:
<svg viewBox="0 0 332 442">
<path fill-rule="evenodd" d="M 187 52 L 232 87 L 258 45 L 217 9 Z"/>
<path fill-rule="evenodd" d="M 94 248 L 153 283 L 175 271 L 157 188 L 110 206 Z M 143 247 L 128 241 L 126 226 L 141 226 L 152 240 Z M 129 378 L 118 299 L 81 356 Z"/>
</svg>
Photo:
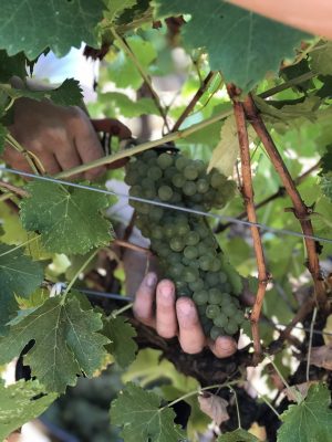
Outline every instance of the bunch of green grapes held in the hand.
<svg viewBox="0 0 332 442">
<path fill-rule="evenodd" d="M 236 186 L 219 171 L 206 170 L 204 161 L 148 150 L 129 161 L 125 182 L 131 186 L 132 197 L 209 211 L 225 206 Z M 225 256 L 206 220 L 147 202 L 132 200 L 131 204 L 137 212 L 136 224 L 151 240 L 165 277 L 175 282 L 177 297 L 194 299 L 205 334 L 212 339 L 236 334 L 243 312 L 226 271 Z"/>
</svg>

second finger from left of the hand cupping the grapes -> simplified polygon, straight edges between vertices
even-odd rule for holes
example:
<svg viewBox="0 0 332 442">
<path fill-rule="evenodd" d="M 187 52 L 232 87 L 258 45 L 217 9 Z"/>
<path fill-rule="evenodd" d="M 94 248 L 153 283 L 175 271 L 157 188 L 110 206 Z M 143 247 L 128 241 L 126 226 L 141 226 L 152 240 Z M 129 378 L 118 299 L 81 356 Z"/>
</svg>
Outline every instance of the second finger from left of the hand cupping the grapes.
<svg viewBox="0 0 332 442">
<path fill-rule="evenodd" d="M 157 286 L 156 330 L 163 338 L 173 338 L 177 334 L 175 287 L 169 280 L 160 281 Z"/>
</svg>

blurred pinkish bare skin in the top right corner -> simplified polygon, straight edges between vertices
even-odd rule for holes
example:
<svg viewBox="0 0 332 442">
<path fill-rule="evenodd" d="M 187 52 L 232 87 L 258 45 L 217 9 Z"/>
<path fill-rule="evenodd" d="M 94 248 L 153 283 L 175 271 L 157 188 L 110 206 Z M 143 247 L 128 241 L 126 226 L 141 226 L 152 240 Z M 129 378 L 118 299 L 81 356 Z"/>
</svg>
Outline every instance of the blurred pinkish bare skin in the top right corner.
<svg viewBox="0 0 332 442">
<path fill-rule="evenodd" d="M 228 0 L 315 35 L 332 39 L 331 0 Z"/>
</svg>

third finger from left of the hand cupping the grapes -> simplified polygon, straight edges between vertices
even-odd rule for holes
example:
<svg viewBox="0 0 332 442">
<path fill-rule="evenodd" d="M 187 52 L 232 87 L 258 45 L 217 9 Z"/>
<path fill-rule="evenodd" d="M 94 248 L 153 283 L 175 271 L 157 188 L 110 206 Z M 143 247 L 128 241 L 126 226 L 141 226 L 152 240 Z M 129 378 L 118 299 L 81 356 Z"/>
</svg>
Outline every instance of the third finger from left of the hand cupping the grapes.
<svg viewBox="0 0 332 442">
<path fill-rule="evenodd" d="M 188 354 L 201 351 L 206 338 L 194 302 L 188 297 L 180 297 L 176 303 L 176 314 L 183 350 Z"/>
</svg>

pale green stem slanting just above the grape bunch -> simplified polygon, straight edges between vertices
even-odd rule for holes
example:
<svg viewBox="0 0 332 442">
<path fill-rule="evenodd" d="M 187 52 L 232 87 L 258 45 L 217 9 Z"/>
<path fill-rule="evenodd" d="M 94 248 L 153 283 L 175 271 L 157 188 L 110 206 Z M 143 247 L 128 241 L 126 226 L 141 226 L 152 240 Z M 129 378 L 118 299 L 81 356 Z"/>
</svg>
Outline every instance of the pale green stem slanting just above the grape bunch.
<svg viewBox="0 0 332 442">
<path fill-rule="evenodd" d="M 111 165 L 112 162 L 115 162 L 120 159 L 132 157 L 133 155 L 137 155 L 145 150 L 152 149 L 153 147 L 160 146 L 160 145 L 164 145 L 169 141 L 174 141 L 176 139 L 186 138 L 197 130 L 204 129 L 205 127 L 210 126 L 211 124 L 214 124 L 216 122 L 227 118 L 231 114 L 232 114 L 232 109 L 229 106 L 229 109 L 226 109 L 226 110 L 221 112 L 220 114 L 214 115 L 212 117 L 207 118 L 200 123 L 197 123 L 186 129 L 169 133 L 169 134 L 165 135 L 164 137 L 155 139 L 153 141 L 142 143 L 138 146 L 131 147 L 125 150 L 121 150 L 113 155 L 107 155 L 106 157 L 98 158 L 94 161 L 86 162 L 85 165 L 81 165 L 81 166 L 73 167 L 72 169 L 63 170 L 62 172 L 56 173 L 53 178 L 68 178 L 75 173 L 85 172 L 86 170 L 93 169 L 94 167 Z"/>
</svg>

